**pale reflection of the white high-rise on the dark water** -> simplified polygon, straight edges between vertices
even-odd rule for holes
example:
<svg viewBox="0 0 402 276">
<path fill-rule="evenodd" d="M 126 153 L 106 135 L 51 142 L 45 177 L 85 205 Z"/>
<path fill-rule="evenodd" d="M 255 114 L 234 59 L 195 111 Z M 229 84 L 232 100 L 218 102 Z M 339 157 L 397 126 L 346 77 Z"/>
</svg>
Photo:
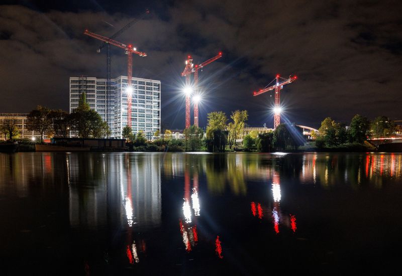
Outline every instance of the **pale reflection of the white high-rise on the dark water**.
<svg viewBox="0 0 402 276">
<path fill-rule="evenodd" d="M 160 155 L 67 156 L 70 225 L 96 227 L 110 217 L 122 226 L 161 223 Z M 85 185 L 82 187 L 81 185 Z"/>
</svg>

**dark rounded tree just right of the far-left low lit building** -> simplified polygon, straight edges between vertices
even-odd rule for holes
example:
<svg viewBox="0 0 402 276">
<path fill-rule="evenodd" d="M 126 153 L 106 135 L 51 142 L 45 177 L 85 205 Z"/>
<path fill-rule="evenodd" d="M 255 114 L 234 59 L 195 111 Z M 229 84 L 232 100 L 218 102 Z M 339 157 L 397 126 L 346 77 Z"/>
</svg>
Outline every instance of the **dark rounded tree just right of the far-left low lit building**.
<svg viewBox="0 0 402 276">
<path fill-rule="evenodd" d="M 51 132 L 53 119 L 50 115 L 51 110 L 47 107 L 38 105 L 27 116 L 27 128 L 31 131 L 41 133 L 41 143 L 43 143 L 43 135 Z"/>
</svg>

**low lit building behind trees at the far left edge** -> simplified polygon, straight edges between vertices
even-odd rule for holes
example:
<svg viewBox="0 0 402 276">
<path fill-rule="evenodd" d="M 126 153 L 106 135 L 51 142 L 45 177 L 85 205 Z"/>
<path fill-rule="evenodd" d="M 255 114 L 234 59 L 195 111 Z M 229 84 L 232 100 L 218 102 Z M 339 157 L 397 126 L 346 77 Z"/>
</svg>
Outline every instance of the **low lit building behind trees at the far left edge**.
<svg viewBox="0 0 402 276">
<path fill-rule="evenodd" d="M 27 113 L 0 113 L 0 125 L 7 121 L 13 121 L 18 129 L 18 139 L 41 139 L 41 133 L 30 131 L 27 128 Z M 44 139 L 47 137 L 44 137 Z M 1 133 L 0 140 L 6 140 L 4 133 Z"/>
</svg>

